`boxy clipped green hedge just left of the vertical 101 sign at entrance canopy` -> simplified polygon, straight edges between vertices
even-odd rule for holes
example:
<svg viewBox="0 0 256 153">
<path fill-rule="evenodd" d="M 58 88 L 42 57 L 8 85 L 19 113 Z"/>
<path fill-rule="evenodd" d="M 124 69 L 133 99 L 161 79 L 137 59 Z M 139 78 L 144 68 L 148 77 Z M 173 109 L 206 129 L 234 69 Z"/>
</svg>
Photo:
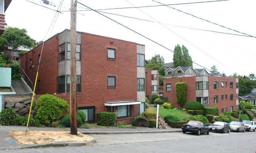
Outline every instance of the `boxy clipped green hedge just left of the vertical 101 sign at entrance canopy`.
<svg viewBox="0 0 256 153">
<path fill-rule="evenodd" d="M 99 112 L 96 114 L 97 124 L 101 126 L 114 126 L 116 122 L 116 113 Z"/>
</svg>

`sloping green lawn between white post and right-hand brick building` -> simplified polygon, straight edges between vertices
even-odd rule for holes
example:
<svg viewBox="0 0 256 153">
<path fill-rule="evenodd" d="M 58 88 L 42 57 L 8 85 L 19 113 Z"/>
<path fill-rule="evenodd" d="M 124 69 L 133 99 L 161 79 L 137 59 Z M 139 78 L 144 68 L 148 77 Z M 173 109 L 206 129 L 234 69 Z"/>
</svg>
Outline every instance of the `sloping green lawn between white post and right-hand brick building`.
<svg viewBox="0 0 256 153">
<path fill-rule="evenodd" d="M 155 111 L 157 110 L 155 109 Z M 180 119 L 189 118 L 191 116 L 191 115 L 188 115 L 185 111 L 180 111 L 176 109 L 159 108 L 159 116 L 161 118 L 164 118 L 166 115 L 169 115 L 169 114 L 176 115 Z"/>
</svg>

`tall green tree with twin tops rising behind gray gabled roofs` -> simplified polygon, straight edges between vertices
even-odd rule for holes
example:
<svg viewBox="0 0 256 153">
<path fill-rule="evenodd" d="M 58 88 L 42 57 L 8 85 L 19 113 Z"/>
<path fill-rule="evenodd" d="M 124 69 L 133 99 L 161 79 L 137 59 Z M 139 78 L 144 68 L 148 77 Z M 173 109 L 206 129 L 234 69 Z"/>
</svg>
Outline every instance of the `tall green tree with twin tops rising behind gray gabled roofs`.
<svg viewBox="0 0 256 153">
<path fill-rule="evenodd" d="M 192 58 L 189 55 L 188 49 L 182 45 L 182 48 L 177 44 L 174 48 L 173 65 L 178 66 L 193 66 Z"/>
</svg>

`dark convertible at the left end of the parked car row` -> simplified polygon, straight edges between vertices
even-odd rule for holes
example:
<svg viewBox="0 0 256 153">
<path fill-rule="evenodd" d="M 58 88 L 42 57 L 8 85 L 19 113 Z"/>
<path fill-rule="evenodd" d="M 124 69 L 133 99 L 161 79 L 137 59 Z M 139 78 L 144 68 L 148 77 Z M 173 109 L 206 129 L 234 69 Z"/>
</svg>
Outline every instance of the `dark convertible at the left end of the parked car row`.
<svg viewBox="0 0 256 153">
<path fill-rule="evenodd" d="M 200 135 L 201 133 L 206 133 L 209 135 L 209 127 L 205 126 L 203 122 L 191 120 L 187 124 L 183 124 L 181 127 L 182 132 L 192 132 L 196 133 L 196 135 Z"/>
</svg>

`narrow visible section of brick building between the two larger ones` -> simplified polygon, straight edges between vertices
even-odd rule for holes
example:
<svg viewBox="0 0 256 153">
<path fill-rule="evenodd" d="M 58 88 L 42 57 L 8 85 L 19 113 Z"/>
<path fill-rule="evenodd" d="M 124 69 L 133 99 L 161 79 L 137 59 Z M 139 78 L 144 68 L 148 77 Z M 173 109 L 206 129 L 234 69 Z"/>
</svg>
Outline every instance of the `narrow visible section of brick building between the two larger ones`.
<svg viewBox="0 0 256 153">
<path fill-rule="evenodd" d="M 159 73 L 157 70 L 146 70 L 146 95 L 151 99 L 151 94 L 159 95 Z"/>
</svg>

